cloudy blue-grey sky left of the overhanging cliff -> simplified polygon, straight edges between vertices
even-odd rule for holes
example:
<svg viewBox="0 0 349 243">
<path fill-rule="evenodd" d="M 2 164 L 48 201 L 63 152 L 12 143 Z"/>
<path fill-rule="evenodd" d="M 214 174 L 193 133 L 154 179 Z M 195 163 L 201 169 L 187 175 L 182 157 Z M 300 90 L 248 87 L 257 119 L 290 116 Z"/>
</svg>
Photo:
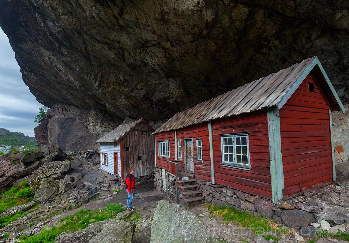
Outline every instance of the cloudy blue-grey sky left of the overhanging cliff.
<svg viewBox="0 0 349 243">
<path fill-rule="evenodd" d="M 0 127 L 34 137 L 34 117 L 43 106 L 22 80 L 8 38 L 0 28 Z"/>
</svg>

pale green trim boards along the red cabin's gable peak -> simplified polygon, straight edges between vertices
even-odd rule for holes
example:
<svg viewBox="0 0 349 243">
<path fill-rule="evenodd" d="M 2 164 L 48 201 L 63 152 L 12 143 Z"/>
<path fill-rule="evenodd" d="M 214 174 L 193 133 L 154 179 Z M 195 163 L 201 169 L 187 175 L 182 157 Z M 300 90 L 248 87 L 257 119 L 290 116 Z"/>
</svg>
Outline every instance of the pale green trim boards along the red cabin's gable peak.
<svg viewBox="0 0 349 243">
<path fill-rule="evenodd" d="M 331 92 L 334 96 L 334 98 L 336 99 L 341 111 L 346 112 L 346 109 L 344 108 L 340 98 L 337 95 L 336 90 L 333 88 L 333 85 L 331 83 L 331 81 L 329 81 L 329 78 L 324 70 L 324 68 L 322 67 L 319 58 L 315 57 L 314 60 L 307 66 L 307 68 L 304 70 L 304 72 L 299 76 L 299 78 L 296 80 L 296 82 L 290 87 L 290 89 L 286 92 L 286 94 L 281 98 L 281 100 L 279 102 L 277 102 L 277 108 L 279 108 L 279 110 L 282 108 L 282 106 L 288 101 L 288 99 L 291 97 L 291 95 L 296 91 L 296 89 L 299 87 L 299 85 L 304 81 L 304 79 L 306 78 L 306 76 L 310 73 L 310 71 L 312 71 L 312 69 L 315 67 L 315 65 L 318 65 L 320 68 L 320 71 L 322 73 L 322 75 L 324 76 L 326 83 L 328 85 L 328 87 L 331 89 Z"/>
</svg>

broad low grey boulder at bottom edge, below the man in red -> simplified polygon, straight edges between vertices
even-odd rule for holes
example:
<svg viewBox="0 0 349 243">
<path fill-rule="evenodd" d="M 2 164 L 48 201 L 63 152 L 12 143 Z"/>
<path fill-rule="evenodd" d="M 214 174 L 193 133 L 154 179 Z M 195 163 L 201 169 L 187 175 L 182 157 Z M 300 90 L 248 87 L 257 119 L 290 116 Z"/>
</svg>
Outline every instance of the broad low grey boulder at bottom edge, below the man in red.
<svg viewBox="0 0 349 243">
<path fill-rule="evenodd" d="M 62 233 L 55 243 L 131 243 L 135 229 L 134 222 L 110 219 L 92 223 L 79 231 Z"/>
</svg>

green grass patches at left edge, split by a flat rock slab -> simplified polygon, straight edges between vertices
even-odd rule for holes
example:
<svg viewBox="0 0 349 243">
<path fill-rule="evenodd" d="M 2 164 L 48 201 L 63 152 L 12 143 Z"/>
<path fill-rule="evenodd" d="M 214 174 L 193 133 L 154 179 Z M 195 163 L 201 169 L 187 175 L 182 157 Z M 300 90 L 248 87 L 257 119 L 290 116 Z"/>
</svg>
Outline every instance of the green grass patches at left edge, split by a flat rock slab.
<svg viewBox="0 0 349 243">
<path fill-rule="evenodd" d="M 23 181 L 17 186 L 14 186 L 0 194 L 4 196 L 0 199 L 0 213 L 5 212 L 7 209 L 17 205 L 22 205 L 33 200 L 34 191 L 30 189 L 28 181 Z M 9 223 L 17 220 L 21 216 L 25 215 L 24 212 L 0 217 L 0 228 L 7 226 Z"/>
</svg>

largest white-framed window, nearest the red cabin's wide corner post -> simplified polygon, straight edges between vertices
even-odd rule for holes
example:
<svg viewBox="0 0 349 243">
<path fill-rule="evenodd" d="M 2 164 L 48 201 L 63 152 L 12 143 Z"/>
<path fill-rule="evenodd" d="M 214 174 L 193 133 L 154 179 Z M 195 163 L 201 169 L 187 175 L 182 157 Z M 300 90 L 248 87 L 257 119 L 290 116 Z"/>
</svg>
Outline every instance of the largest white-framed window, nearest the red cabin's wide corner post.
<svg viewBox="0 0 349 243">
<path fill-rule="evenodd" d="M 250 166 L 248 135 L 222 136 L 222 163 Z"/>
</svg>

